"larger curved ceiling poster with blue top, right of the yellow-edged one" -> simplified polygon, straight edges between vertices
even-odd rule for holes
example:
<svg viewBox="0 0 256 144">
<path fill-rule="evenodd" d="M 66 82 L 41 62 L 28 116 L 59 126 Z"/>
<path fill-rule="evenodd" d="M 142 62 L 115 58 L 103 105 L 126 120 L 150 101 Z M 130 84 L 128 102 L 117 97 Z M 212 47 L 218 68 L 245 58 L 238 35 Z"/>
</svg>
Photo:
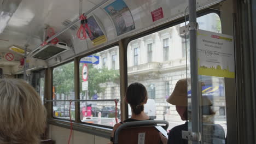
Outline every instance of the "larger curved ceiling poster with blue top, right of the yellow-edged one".
<svg viewBox="0 0 256 144">
<path fill-rule="evenodd" d="M 135 29 L 131 11 L 123 0 L 116 0 L 104 9 L 113 20 L 117 35 L 121 35 Z"/>
</svg>

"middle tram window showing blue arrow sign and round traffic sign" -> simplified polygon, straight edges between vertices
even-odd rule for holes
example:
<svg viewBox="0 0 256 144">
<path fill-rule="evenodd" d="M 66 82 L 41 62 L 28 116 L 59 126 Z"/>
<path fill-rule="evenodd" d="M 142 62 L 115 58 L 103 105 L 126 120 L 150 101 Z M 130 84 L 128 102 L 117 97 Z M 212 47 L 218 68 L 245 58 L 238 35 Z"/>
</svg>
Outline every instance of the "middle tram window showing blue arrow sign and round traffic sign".
<svg viewBox="0 0 256 144">
<path fill-rule="evenodd" d="M 80 99 L 99 100 L 80 101 L 81 121 L 113 127 L 115 103 L 100 100 L 120 99 L 119 47 L 114 46 L 83 57 L 79 65 Z M 117 116 L 120 121 L 120 102 Z"/>
</svg>

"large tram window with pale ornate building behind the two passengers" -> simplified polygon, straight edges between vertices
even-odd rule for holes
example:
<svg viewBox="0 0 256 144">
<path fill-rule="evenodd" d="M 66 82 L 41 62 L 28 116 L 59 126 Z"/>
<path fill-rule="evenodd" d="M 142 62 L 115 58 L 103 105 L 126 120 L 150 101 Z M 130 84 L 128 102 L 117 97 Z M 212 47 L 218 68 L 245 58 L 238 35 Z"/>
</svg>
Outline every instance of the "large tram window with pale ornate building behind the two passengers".
<svg viewBox="0 0 256 144">
<path fill-rule="evenodd" d="M 221 32 L 220 19 L 215 13 L 198 17 L 197 21 L 200 29 Z M 148 113 L 149 117 L 155 117 L 155 120 L 168 121 L 170 124 L 168 129 L 184 124 L 176 111 L 176 107 L 166 102 L 166 99 L 173 92 L 176 82 L 186 78 L 187 75 L 186 41 L 179 35 L 179 27 L 182 26 L 184 26 L 184 22 L 146 35 L 143 38 L 132 40 L 127 46 L 128 85 L 133 82 L 140 82 L 147 88 L 148 101 L 153 101 L 152 104 L 154 105 L 151 106 L 155 107 L 154 112 Z M 138 46 L 141 53 L 139 53 L 136 59 L 138 63 L 136 63 L 135 49 Z M 187 50 L 189 50 L 188 39 Z M 187 56 L 189 58 L 189 51 Z M 220 79 L 214 80 L 222 82 Z M 224 93 L 219 91 L 218 94 L 219 97 L 222 97 Z M 219 106 L 224 105 L 219 103 Z M 216 109 L 217 107 L 214 106 L 214 110 Z M 129 116 L 130 114 L 129 112 Z"/>
</svg>

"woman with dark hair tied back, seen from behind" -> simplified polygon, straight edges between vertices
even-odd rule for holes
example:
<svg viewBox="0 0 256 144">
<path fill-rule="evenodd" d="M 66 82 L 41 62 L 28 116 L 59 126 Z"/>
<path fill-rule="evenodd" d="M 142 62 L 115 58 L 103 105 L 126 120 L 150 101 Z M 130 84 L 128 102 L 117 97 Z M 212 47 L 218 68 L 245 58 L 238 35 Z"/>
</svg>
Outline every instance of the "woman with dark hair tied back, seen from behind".
<svg viewBox="0 0 256 144">
<path fill-rule="evenodd" d="M 110 137 L 110 143 L 113 143 L 115 130 L 122 123 L 150 120 L 149 116 L 147 116 L 146 113 L 144 112 L 144 104 L 146 104 L 148 100 L 146 87 L 144 87 L 141 83 L 138 82 L 132 83 L 127 88 L 125 100 L 131 106 L 131 118 L 128 118 L 124 122 L 120 122 L 114 125 Z"/>
</svg>

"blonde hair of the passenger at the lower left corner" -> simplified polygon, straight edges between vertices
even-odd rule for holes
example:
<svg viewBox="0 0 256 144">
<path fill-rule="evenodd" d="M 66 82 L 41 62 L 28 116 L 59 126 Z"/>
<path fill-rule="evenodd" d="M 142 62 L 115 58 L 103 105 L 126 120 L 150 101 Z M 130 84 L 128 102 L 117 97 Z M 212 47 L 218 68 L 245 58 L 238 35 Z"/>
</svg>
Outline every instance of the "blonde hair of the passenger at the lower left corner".
<svg viewBox="0 0 256 144">
<path fill-rule="evenodd" d="M 42 101 L 26 81 L 0 79 L 0 143 L 39 143 L 46 126 Z"/>
</svg>

